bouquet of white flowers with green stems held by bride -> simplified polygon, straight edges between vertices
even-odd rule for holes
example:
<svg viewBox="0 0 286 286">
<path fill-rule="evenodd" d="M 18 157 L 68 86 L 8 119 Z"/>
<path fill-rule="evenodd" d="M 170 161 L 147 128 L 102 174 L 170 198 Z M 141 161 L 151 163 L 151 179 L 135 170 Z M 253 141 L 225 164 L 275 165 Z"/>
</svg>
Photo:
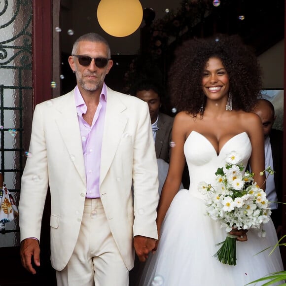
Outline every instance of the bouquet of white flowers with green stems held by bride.
<svg viewBox="0 0 286 286">
<path fill-rule="evenodd" d="M 244 167 L 239 165 L 239 155 L 231 152 L 226 158 L 226 165 L 218 168 L 216 184 L 213 186 L 201 182 L 199 189 L 207 194 L 207 214 L 214 220 L 218 220 L 221 227 L 226 228 L 225 241 L 219 243 L 221 248 L 215 253 L 217 259 L 228 265 L 236 265 L 236 236 L 230 235 L 233 228 L 250 229 L 261 228 L 263 223 L 269 221 L 271 211 L 266 193 L 254 182 L 253 173 L 244 172 Z M 268 167 L 265 171 L 273 174 Z"/>
</svg>

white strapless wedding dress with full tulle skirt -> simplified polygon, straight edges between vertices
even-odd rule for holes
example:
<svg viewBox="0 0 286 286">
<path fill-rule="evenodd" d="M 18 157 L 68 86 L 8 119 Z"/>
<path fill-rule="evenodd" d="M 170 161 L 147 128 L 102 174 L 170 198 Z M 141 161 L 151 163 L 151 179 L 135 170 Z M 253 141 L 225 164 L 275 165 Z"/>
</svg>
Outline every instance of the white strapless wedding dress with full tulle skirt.
<svg viewBox="0 0 286 286">
<path fill-rule="evenodd" d="M 166 214 L 158 249 L 146 262 L 141 286 L 244 286 L 283 270 L 279 248 L 271 255 L 272 248 L 260 252 L 277 243 L 271 219 L 264 225 L 266 237 L 250 229 L 247 242 L 237 241 L 236 266 L 222 264 L 214 257 L 219 249 L 216 244 L 225 240 L 226 232 L 206 215 L 206 198 L 198 184 L 214 183 L 214 173 L 225 165 L 231 151 L 241 156 L 240 164 L 247 165 L 251 154 L 247 133 L 231 138 L 217 154 L 206 137 L 191 132 L 184 144 L 190 187 L 179 190 Z"/>
</svg>

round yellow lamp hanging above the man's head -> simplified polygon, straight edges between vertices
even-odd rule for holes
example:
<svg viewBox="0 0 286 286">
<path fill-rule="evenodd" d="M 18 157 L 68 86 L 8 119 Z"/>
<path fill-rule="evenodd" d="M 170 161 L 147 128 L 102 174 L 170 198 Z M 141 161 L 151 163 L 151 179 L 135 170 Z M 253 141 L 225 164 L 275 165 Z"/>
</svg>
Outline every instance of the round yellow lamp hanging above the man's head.
<svg viewBox="0 0 286 286">
<path fill-rule="evenodd" d="M 101 0 L 97 8 L 97 18 L 107 34 L 124 37 L 139 28 L 143 9 L 139 0 Z"/>
</svg>

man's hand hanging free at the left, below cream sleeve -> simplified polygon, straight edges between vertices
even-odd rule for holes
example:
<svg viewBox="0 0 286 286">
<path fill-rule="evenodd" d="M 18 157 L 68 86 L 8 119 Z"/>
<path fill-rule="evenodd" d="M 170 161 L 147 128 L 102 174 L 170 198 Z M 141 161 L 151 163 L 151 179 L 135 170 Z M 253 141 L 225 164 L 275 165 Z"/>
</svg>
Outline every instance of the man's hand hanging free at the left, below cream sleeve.
<svg viewBox="0 0 286 286">
<path fill-rule="evenodd" d="M 32 256 L 36 266 L 40 266 L 40 248 L 38 241 L 33 238 L 24 239 L 20 246 L 21 262 L 24 268 L 32 274 L 36 274 L 32 265 Z"/>
</svg>

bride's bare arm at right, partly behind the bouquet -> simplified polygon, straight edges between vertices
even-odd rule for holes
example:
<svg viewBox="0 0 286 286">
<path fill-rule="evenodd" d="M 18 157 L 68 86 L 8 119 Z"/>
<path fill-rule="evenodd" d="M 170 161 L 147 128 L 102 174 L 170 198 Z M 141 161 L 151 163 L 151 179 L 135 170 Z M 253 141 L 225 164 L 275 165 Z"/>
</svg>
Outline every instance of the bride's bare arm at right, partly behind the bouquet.
<svg viewBox="0 0 286 286">
<path fill-rule="evenodd" d="M 257 182 L 259 187 L 265 190 L 265 174 L 263 176 L 259 175 L 259 173 L 265 169 L 264 133 L 261 119 L 258 115 L 250 113 L 247 121 L 249 128 L 248 134 L 252 147 L 250 156 L 251 172 L 254 173 L 253 179 Z"/>
</svg>

